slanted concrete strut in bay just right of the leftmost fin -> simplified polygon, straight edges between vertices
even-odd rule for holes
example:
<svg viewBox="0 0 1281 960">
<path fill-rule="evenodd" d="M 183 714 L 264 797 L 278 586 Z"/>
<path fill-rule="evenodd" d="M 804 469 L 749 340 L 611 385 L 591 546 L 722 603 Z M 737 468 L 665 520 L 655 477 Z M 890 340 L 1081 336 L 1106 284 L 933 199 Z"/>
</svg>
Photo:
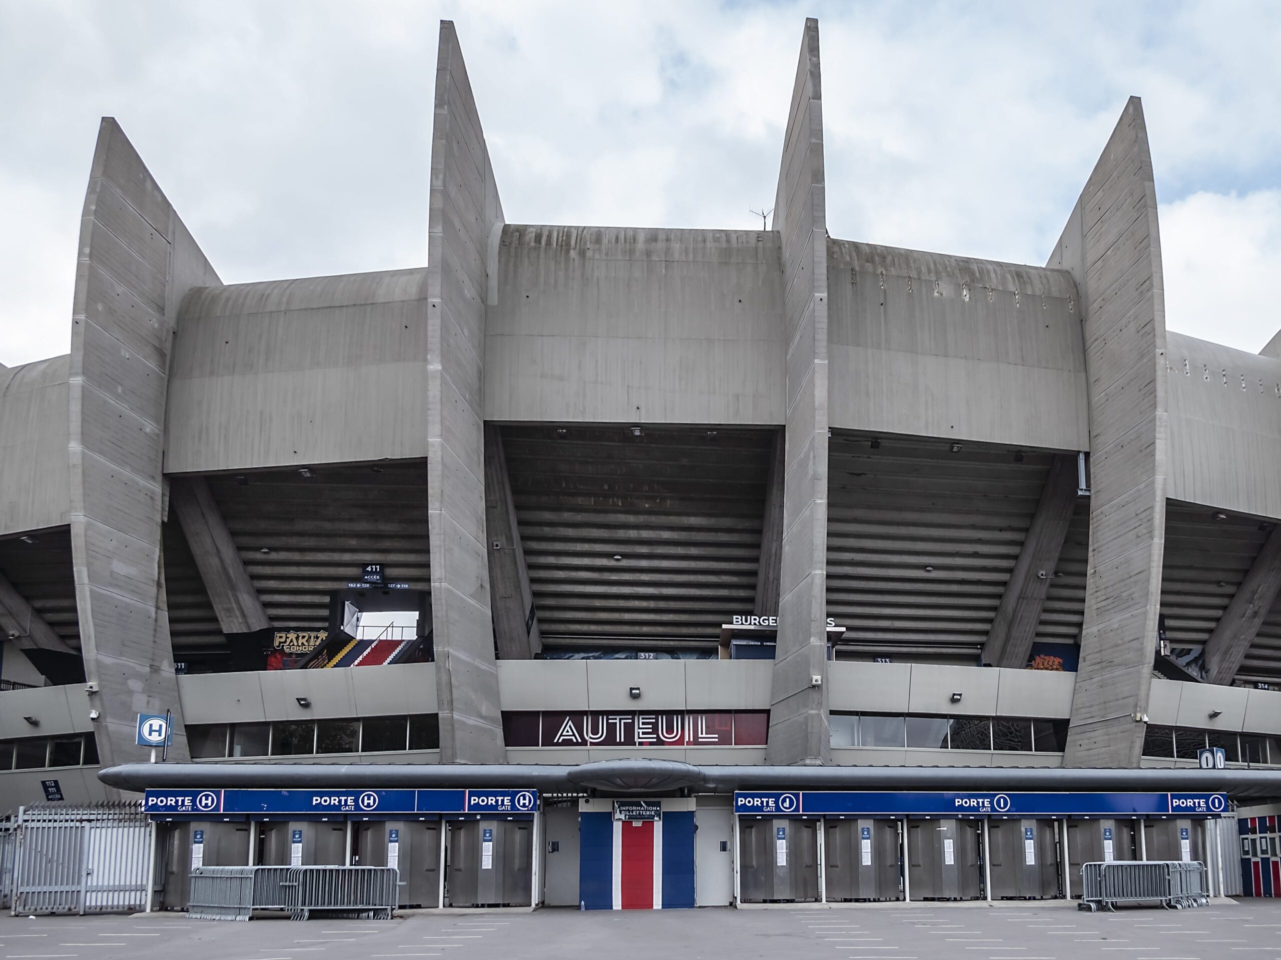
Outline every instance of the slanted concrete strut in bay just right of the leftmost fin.
<svg viewBox="0 0 1281 960">
<path fill-rule="evenodd" d="M 245 572 L 240 550 L 205 477 L 173 477 L 169 481 L 169 508 L 182 525 L 223 632 L 249 634 L 270 627 L 272 621 Z"/>
</svg>

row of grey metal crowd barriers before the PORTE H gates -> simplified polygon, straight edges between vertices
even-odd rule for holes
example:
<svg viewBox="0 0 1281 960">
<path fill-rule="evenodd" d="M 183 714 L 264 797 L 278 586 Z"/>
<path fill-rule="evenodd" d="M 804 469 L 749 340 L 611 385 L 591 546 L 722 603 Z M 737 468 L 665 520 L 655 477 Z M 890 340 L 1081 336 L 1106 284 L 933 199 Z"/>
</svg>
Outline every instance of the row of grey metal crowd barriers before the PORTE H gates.
<svg viewBox="0 0 1281 960">
<path fill-rule="evenodd" d="M 391 919 L 400 891 L 393 867 L 196 867 L 187 914 L 202 920 L 249 920 L 254 910 L 313 911 Z"/>
</svg>

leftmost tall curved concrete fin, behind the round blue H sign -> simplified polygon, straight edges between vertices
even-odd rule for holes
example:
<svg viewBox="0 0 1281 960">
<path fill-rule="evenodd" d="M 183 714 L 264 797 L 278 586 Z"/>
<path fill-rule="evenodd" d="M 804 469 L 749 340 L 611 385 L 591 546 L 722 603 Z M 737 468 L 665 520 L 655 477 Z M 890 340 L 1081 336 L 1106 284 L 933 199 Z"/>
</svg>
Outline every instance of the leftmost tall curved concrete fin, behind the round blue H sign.
<svg viewBox="0 0 1281 960">
<path fill-rule="evenodd" d="M 182 297 L 218 275 L 111 118 L 81 220 L 69 371 L 69 520 L 85 675 L 99 684 L 97 750 L 141 759 L 138 713 L 175 714 L 165 609 L 161 451 L 169 351 Z"/>
</svg>

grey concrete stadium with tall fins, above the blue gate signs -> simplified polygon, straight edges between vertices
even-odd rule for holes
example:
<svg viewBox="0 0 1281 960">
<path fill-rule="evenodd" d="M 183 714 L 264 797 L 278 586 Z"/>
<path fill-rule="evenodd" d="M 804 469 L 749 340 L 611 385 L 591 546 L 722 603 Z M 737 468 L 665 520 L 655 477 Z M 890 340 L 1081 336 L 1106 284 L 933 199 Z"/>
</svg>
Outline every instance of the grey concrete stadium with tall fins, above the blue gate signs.
<svg viewBox="0 0 1281 960">
<path fill-rule="evenodd" d="M 224 284 L 104 119 L 70 356 L 0 369 L 0 809 L 167 712 L 210 786 L 569 771 L 574 849 L 600 762 L 1281 796 L 1281 342 L 1166 330 L 1138 99 L 1100 146 L 1043 268 L 833 238 L 810 20 L 771 229 L 512 224 L 445 23 L 425 266 Z"/>
</svg>

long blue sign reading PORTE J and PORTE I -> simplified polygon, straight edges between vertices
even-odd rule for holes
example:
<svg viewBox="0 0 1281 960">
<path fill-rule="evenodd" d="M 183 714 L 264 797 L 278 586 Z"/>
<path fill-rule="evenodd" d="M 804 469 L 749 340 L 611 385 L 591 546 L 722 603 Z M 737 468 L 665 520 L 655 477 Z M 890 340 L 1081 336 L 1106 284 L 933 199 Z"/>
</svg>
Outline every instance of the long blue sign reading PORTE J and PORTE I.
<svg viewBox="0 0 1281 960">
<path fill-rule="evenodd" d="M 1217 817 L 1227 809 L 1227 794 L 734 794 L 734 813 L 767 817 Z"/>
</svg>

